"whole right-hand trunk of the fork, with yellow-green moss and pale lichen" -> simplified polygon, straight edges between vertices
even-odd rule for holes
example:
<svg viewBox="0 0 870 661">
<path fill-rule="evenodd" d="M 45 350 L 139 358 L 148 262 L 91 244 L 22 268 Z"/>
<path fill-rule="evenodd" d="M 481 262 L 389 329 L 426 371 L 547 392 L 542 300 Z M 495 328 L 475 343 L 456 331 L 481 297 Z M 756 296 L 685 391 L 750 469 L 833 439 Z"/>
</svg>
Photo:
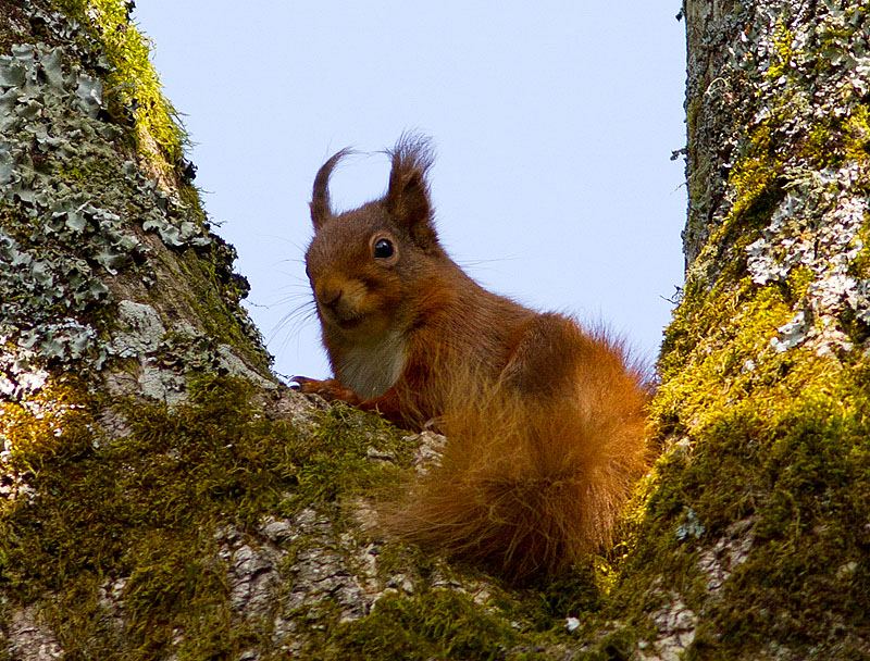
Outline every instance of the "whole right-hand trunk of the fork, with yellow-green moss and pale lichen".
<svg viewBox="0 0 870 661">
<path fill-rule="evenodd" d="M 686 283 L 651 407 L 663 456 L 616 593 L 647 650 L 868 658 L 870 14 L 683 13 Z"/>
</svg>

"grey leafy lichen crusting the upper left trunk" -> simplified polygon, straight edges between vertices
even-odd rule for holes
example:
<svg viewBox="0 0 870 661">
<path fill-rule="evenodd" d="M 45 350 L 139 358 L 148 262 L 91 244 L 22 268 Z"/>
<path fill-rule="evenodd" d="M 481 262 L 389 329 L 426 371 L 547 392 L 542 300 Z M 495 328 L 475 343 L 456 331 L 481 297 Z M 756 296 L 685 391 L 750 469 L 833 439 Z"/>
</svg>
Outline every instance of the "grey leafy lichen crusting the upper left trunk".
<svg viewBox="0 0 870 661">
<path fill-rule="evenodd" d="M 202 356 L 185 370 L 214 365 L 274 385 L 261 364 L 247 364 L 260 340 L 234 300 L 246 286 L 229 271 L 232 247 L 198 209 L 145 174 L 125 146 L 125 126 L 108 113 L 102 82 L 77 64 L 75 49 L 89 43 L 95 54 L 85 59 L 107 70 L 99 46 L 74 22 L 39 7 L 25 11 L 69 43 L 21 43 L 0 55 L 0 390 L 25 397 L 46 384 L 50 365 L 98 373 L 107 360 L 134 358 L 142 394 L 178 401 L 183 373 L 173 365 L 195 350 Z M 207 270 L 225 291 L 211 304 L 236 315 L 244 349 L 214 337 L 194 311 L 178 320 L 179 301 L 160 302 L 165 283 L 184 276 L 173 261 L 181 265 L 191 250 L 213 262 Z M 209 303 L 199 297 L 195 304 Z M 137 320 L 137 309 L 149 312 Z M 116 372 L 111 383 L 128 381 Z"/>
</svg>

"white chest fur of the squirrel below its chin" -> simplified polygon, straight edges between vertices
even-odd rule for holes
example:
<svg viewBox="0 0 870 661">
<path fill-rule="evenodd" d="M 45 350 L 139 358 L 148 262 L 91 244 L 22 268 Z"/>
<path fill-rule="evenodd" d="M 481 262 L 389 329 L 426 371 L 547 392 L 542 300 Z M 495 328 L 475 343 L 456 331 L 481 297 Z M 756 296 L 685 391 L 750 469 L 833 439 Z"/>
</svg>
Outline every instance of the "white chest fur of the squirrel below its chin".
<svg viewBox="0 0 870 661">
<path fill-rule="evenodd" d="M 388 333 L 357 345 L 334 367 L 344 386 L 365 399 L 377 397 L 396 383 L 405 367 L 405 340 L 398 333 Z"/>
</svg>

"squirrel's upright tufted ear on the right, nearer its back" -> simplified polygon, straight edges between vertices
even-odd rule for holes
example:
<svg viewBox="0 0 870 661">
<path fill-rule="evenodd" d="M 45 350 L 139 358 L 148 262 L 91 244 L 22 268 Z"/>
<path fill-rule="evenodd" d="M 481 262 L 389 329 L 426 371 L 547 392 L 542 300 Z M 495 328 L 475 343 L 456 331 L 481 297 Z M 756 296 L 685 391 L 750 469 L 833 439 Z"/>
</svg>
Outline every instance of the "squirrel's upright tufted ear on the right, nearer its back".
<svg viewBox="0 0 870 661">
<path fill-rule="evenodd" d="M 384 197 L 386 211 L 393 222 L 407 229 L 422 248 L 432 248 L 438 238 L 432 224 L 426 182 L 426 172 L 433 161 L 430 140 L 423 136 L 403 135 L 395 149 L 387 153 L 393 158 L 393 170 Z"/>
</svg>

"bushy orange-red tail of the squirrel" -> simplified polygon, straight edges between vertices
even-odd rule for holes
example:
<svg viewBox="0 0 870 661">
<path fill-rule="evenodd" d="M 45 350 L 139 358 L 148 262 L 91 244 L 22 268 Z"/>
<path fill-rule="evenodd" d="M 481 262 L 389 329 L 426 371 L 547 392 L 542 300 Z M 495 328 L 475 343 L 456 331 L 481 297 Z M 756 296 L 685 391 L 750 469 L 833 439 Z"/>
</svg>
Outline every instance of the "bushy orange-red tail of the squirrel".
<svg viewBox="0 0 870 661">
<path fill-rule="evenodd" d="M 646 391 L 618 347 L 596 351 L 559 397 L 456 392 L 440 464 L 385 508 L 386 527 L 509 579 L 562 571 L 607 542 L 648 462 Z"/>
</svg>

